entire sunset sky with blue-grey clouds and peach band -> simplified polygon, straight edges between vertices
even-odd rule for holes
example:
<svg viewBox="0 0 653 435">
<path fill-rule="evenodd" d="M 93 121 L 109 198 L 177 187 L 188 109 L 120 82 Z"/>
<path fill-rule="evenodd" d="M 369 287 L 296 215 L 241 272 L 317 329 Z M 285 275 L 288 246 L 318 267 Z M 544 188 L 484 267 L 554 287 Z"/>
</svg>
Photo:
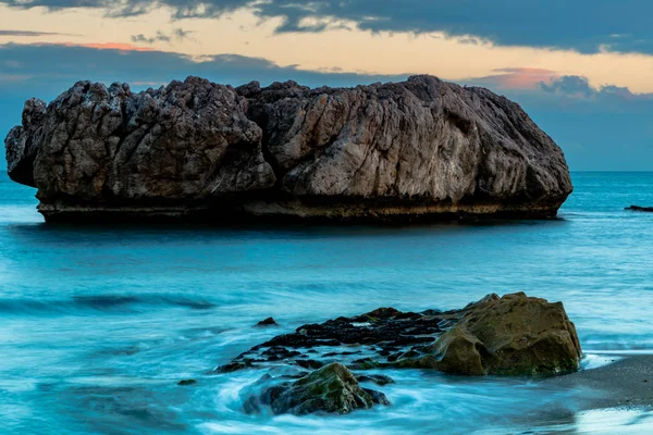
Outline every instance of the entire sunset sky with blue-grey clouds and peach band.
<svg viewBox="0 0 653 435">
<path fill-rule="evenodd" d="M 653 171 L 650 0 L 0 0 L 0 136 L 79 79 L 355 86 L 517 101 L 572 171 Z"/>
</svg>

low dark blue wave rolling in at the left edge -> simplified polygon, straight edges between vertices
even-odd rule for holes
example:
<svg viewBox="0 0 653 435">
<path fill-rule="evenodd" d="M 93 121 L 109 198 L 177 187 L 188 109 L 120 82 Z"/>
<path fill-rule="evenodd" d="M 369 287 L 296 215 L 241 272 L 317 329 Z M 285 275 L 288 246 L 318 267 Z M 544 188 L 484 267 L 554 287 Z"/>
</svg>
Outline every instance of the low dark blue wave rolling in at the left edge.
<svg viewBox="0 0 653 435">
<path fill-rule="evenodd" d="M 181 295 L 88 295 L 67 299 L 0 298 L 0 315 L 84 315 L 85 312 L 131 313 L 152 309 L 210 310 L 206 299 Z"/>
</svg>

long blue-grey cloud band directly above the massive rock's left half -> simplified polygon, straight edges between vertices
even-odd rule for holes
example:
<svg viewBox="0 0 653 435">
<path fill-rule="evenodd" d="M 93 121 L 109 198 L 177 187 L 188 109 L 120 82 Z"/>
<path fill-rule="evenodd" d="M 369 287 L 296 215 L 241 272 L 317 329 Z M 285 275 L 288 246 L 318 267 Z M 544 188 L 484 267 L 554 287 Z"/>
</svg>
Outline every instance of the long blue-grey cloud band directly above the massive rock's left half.
<svg viewBox="0 0 653 435">
<path fill-rule="evenodd" d="M 300 71 L 294 65 L 280 66 L 266 59 L 238 54 L 219 54 L 194 62 L 184 54 L 171 52 L 98 50 L 63 45 L 0 45 L 0 64 L 5 62 L 21 65 L 16 74 L 29 76 L 21 85 L 23 92 L 35 89 L 60 91 L 78 79 L 168 83 L 187 75 L 200 75 L 233 85 L 254 79 L 271 83 L 292 78 L 310 86 L 347 86 L 398 77 Z M 50 91 L 47 94 L 51 95 Z"/>
</svg>

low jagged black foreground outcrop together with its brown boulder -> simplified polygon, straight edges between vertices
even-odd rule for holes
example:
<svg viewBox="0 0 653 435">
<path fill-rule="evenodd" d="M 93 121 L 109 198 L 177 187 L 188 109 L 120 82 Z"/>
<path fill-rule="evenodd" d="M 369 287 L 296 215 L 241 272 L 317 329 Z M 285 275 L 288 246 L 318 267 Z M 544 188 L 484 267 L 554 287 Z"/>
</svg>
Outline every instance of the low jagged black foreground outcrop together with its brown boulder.
<svg viewBox="0 0 653 435">
<path fill-rule="evenodd" d="M 318 351 L 321 357 L 306 358 L 308 350 L 334 347 L 336 350 Z M 576 371 L 581 356 L 576 328 L 563 304 L 518 293 L 502 298 L 489 295 L 447 312 L 381 308 L 304 325 L 255 346 L 218 371 L 280 362 L 313 369 L 338 361 L 350 370 L 394 366 L 471 375 L 532 375 Z"/>
</svg>

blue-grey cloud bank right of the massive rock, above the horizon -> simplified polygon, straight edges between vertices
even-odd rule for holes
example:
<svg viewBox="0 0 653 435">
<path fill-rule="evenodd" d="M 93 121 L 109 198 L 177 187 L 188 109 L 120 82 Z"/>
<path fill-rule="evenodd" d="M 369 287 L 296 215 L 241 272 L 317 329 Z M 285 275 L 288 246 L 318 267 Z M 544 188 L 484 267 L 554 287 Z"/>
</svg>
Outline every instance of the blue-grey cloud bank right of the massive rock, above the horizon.
<svg viewBox="0 0 653 435">
<path fill-rule="evenodd" d="M 653 170 L 653 94 L 562 76 L 535 89 L 504 89 L 564 149 L 577 171 Z"/>
</svg>

